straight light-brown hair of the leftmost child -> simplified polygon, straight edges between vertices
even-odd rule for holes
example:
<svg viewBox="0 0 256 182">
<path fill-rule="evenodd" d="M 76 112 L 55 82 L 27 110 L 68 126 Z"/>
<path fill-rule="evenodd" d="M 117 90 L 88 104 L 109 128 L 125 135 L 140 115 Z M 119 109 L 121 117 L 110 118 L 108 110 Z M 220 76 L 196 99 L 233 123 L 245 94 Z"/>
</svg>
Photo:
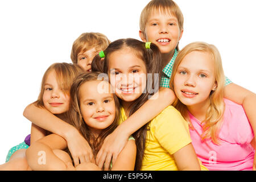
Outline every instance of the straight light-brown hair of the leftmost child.
<svg viewBox="0 0 256 182">
<path fill-rule="evenodd" d="M 40 93 L 38 96 L 38 100 L 34 102 L 34 104 L 38 107 L 43 107 L 43 94 L 44 94 L 44 85 L 46 84 L 46 79 L 49 72 L 55 71 L 57 82 L 60 88 L 69 95 L 72 82 L 79 73 L 84 72 L 79 65 L 69 64 L 69 63 L 54 63 L 46 70 L 44 76 L 42 78 Z"/>
</svg>

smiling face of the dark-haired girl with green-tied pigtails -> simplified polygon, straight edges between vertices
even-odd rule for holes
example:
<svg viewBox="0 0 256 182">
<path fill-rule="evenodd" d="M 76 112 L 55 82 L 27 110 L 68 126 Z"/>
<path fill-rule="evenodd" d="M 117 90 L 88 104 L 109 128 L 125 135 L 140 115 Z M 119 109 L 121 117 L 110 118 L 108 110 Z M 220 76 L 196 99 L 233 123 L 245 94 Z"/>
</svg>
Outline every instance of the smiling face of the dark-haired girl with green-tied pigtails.
<svg viewBox="0 0 256 182">
<path fill-rule="evenodd" d="M 132 102 L 146 88 L 146 65 L 130 48 L 123 48 L 109 56 L 109 77 L 117 97 Z"/>
</svg>

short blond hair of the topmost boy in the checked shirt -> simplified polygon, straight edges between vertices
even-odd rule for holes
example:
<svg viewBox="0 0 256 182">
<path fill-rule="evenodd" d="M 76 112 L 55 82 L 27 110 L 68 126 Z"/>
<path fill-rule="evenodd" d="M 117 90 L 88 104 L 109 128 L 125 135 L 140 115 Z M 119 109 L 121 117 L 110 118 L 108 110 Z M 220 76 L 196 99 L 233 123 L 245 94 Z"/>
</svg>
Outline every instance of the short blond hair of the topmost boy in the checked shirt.
<svg viewBox="0 0 256 182">
<path fill-rule="evenodd" d="M 180 31 L 183 30 L 183 14 L 177 6 L 177 4 L 174 1 L 171 0 L 152 0 L 150 1 L 146 7 L 141 12 L 141 17 L 139 19 L 139 28 L 143 32 L 144 36 L 146 37 L 145 28 L 146 23 L 148 21 L 148 17 L 151 15 L 151 13 L 156 13 L 156 11 L 159 11 L 163 14 L 171 14 L 175 16 L 179 23 Z M 178 47 L 179 43 L 176 46 L 177 51 L 179 51 Z"/>
</svg>

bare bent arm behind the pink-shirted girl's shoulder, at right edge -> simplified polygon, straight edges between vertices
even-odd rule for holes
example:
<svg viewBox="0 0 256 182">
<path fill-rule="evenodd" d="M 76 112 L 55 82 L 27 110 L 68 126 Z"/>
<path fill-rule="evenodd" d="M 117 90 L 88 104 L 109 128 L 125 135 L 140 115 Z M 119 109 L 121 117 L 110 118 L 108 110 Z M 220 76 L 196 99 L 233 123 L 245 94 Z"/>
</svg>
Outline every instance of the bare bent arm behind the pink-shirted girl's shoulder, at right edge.
<svg viewBox="0 0 256 182">
<path fill-rule="evenodd" d="M 224 97 L 243 106 L 250 121 L 254 134 L 256 133 L 256 94 L 236 84 L 225 86 Z M 254 155 L 253 169 L 256 170 L 256 153 Z"/>
</svg>

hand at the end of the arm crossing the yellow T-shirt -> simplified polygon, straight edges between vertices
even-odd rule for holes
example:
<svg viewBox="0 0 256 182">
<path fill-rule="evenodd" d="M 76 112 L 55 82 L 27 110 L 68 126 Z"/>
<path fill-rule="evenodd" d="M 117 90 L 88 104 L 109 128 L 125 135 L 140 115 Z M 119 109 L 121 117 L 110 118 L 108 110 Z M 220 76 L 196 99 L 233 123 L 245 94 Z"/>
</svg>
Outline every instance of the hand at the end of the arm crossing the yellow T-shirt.
<svg viewBox="0 0 256 182">
<path fill-rule="evenodd" d="M 105 138 L 104 143 L 100 151 L 96 156 L 96 164 L 102 169 L 104 165 L 104 170 L 109 170 L 110 162 L 114 165 L 115 160 L 117 159 L 118 154 L 125 147 L 129 136 L 127 137 L 123 132 L 119 131 L 118 128 L 108 137 Z"/>
</svg>

